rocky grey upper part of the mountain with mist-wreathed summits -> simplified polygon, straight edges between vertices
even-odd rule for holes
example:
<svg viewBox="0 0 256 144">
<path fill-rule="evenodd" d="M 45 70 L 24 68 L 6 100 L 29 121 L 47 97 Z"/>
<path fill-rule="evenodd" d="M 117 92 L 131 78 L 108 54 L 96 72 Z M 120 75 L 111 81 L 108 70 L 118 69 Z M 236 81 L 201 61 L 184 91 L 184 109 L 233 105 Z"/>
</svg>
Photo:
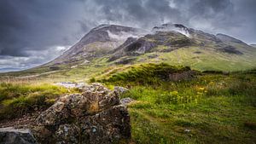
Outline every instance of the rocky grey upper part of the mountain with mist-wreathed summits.
<svg viewBox="0 0 256 144">
<path fill-rule="evenodd" d="M 189 48 L 209 49 L 220 55 L 234 57 L 247 55 L 246 53 L 253 49 L 234 37 L 224 34 L 215 36 L 181 24 L 155 26 L 151 32 L 125 26 L 102 25 L 92 29 L 79 43 L 48 66 L 86 64 L 102 57 L 106 57 L 108 62 L 127 64 L 136 60 L 139 55 L 169 53 L 176 49 Z M 196 53 L 201 54 L 200 51 Z"/>
</svg>

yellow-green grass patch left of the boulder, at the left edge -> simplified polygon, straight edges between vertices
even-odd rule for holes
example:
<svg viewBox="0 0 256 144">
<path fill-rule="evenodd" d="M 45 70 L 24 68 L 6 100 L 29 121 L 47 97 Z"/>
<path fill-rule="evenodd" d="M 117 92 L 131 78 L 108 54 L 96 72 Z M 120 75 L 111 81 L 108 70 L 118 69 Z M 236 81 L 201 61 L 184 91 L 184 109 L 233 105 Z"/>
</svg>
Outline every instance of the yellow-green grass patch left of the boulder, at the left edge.
<svg viewBox="0 0 256 144">
<path fill-rule="evenodd" d="M 51 84 L 0 84 L 0 120 L 50 107 L 61 95 L 76 92 Z"/>
</svg>

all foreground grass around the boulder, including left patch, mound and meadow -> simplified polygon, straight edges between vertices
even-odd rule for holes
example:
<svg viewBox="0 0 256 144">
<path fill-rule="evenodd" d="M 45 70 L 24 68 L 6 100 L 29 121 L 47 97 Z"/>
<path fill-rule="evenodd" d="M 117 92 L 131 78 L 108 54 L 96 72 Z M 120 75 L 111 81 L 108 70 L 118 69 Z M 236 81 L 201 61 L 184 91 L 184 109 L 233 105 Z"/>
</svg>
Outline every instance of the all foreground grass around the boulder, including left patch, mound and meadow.
<svg viewBox="0 0 256 144">
<path fill-rule="evenodd" d="M 94 72 L 83 79 L 88 83 L 130 89 L 121 97 L 136 100 L 128 105 L 131 143 L 255 143 L 256 71 L 196 72 L 192 79 L 166 80 L 170 72 L 188 70 L 163 63 L 81 69 Z M 0 120 L 44 110 L 57 97 L 78 92 L 52 84 L 63 79 L 46 78 L 51 80 L 1 83 Z"/>
</svg>

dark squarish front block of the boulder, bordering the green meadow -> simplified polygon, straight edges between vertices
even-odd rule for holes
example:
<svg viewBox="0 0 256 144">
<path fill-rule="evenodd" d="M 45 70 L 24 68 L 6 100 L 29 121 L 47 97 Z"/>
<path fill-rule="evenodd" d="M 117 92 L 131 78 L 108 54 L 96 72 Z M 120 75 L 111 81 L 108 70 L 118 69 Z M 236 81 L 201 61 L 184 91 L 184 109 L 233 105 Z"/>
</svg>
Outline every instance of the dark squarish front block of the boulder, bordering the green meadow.
<svg viewBox="0 0 256 144">
<path fill-rule="evenodd" d="M 82 118 L 82 142 L 113 143 L 131 137 L 130 116 L 125 106 L 119 105 L 90 117 Z"/>
</svg>

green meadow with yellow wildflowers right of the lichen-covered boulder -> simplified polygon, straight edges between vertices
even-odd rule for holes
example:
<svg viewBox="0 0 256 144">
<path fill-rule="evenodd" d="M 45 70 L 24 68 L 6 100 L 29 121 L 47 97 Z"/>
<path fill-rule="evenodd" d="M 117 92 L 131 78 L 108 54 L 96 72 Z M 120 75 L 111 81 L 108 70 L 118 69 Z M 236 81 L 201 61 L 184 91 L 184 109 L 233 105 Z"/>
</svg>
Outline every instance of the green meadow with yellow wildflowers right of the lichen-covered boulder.
<svg viewBox="0 0 256 144">
<path fill-rule="evenodd" d="M 137 100 L 129 105 L 136 143 L 256 141 L 255 72 L 204 74 L 192 81 L 150 85 L 122 78 L 108 84 L 132 87 L 122 97 Z"/>
</svg>

